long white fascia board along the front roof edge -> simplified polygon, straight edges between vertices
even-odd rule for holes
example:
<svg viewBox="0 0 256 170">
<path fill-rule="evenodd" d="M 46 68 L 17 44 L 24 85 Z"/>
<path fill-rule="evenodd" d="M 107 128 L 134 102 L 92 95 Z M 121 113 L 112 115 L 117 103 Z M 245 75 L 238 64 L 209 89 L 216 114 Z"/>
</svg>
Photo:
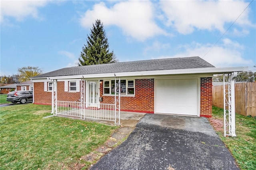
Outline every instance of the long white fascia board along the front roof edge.
<svg viewBox="0 0 256 170">
<path fill-rule="evenodd" d="M 138 72 L 116 72 L 116 73 L 101 73 L 101 74 L 80 74 L 71 76 L 52 76 L 47 79 L 79 79 L 79 78 L 108 78 L 108 77 L 127 77 L 127 76 L 156 76 L 156 75 L 172 75 L 172 74 L 222 74 L 231 72 L 248 71 L 248 67 L 228 67 L 228 68 L 189 68 L 189 69 L 176 69 L 176 70 L 152 70 L 152 71 L 138 71 Z M 42 78 L 40 78 L 42 81 Z M 45 78 L 44 78 L 45 79 Z M 35 82 L 34 79 L 32 82 Z M 38 81 L 39 82 L 39 81 Z"/>
</svg>

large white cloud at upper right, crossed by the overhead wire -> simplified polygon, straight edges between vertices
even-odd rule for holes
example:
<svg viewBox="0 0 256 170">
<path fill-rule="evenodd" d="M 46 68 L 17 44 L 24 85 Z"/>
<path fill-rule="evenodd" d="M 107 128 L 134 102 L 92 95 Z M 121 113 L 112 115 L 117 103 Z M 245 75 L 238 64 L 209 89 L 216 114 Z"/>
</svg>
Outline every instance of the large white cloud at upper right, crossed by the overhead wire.
<svg viewBox="0 0 256 170">
<path fill-rule="evenodd" d="M 176 28 L 182 34 L 194 30 L 220 30 L 224 32 L 226 23 L 233 23 L 248 6 L 246 1 L 160 1 L 166 15 L 166 26 Z M 235 24 L 253 26 L 247 9 Z M 246 33 L 246 31 L 244 30 Z"/>
</svg>

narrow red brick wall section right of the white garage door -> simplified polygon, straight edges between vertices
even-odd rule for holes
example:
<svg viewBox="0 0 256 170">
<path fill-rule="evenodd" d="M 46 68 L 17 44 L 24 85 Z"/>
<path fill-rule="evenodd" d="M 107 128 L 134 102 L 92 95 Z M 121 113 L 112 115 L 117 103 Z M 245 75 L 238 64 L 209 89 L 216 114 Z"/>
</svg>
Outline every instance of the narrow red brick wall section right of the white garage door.
<svg viewBox="0 0 256 170">
<path fill-rule="evenodd" d="M 200 116 L 212 117 L 212 78 L 202 77 L 200 84 Z"/>
</svg>

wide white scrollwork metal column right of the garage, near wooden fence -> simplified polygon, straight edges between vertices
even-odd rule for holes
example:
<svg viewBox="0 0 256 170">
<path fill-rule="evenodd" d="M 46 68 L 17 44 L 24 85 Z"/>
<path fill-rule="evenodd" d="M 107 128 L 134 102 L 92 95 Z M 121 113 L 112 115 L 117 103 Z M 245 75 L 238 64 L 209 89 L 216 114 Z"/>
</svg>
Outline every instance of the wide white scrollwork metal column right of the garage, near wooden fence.
<svg viewBox="0 0 256 170">
<path fill-rule="evenodd" d="M 223 74 L 224 136 L 236 136 L 235 86 L 237 72 Z M 225 86 L 227 82 L 227 88 Z"/>
</svg>

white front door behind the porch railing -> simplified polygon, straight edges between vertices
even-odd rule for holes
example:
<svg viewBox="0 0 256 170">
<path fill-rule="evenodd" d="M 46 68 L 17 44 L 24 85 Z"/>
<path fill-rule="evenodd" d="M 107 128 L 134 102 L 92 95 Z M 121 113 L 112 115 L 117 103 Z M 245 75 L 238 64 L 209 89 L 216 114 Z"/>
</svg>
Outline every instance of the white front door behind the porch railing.
<svg viewBox="0 0 256 170">
<path fill-rule="evenodd" d="M 98 81 L 89 81 L 88 82 L 89 90 L 89 106 L 96 107 L 98 104 Z"/>
</svg>

